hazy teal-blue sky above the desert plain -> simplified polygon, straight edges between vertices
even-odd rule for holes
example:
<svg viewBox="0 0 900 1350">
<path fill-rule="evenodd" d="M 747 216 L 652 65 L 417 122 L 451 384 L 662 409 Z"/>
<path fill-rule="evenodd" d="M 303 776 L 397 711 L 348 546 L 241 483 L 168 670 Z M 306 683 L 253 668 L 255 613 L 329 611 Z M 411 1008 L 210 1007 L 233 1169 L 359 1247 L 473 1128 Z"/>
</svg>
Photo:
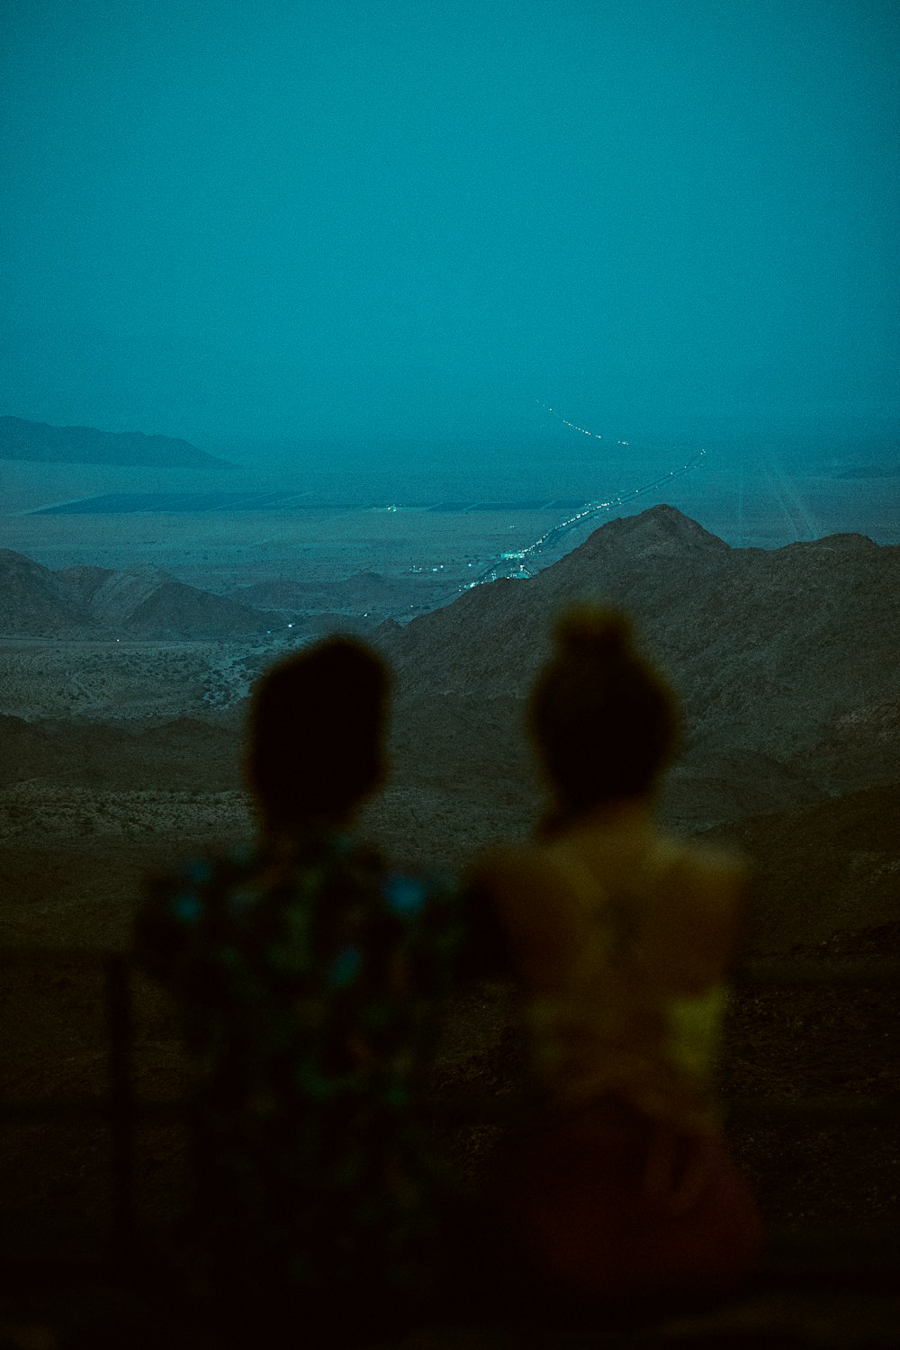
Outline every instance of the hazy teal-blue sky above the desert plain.
<svg viewBox="0 0 900 1350">
<path fill-rule="evenodd" d="M 889 0 L 5 0 L 0 412 L 896 413 Z"/>
</svg>

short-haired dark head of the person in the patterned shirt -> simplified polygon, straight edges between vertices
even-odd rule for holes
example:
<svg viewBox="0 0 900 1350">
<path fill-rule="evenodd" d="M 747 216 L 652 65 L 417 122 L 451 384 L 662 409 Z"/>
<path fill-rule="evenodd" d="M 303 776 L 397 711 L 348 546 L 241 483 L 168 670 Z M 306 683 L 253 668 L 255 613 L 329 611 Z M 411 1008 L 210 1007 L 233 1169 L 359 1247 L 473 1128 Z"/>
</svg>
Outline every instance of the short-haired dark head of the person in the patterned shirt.
<svg viewBox="0 0 900 1350">
<path fill-rule="evenodd" d="M 340 821 L 379 787 L 387 687 L 385 663 L 352 637 L 317 643 L 263 675 L 246 771 L 270 830 Z"/>
</svg>

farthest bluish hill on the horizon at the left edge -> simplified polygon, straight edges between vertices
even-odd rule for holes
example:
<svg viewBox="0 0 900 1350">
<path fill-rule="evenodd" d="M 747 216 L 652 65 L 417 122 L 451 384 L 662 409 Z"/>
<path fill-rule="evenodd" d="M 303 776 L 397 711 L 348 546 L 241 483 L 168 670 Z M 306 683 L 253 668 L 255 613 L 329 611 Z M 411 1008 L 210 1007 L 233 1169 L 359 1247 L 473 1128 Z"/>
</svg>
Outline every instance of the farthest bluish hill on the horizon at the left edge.
<svg viewBox="0 0 900 1350">
<path fill-rule="evenodd" d="M 142 464 L 154 468 L 227 467 L 225 460 L 177 436 L 97 431 L 96 427 L 50 427 L 23 417 L 0 417 L 0 459 L 53 464 Z"/>
</svg>

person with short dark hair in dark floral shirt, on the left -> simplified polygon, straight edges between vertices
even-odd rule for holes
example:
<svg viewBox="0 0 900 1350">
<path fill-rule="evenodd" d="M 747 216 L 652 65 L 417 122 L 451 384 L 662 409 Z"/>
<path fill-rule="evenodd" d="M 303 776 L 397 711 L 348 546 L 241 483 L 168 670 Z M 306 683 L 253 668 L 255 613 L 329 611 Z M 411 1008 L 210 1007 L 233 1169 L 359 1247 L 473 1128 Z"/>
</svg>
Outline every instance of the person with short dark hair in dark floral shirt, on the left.
<svg viewBox="0 0 900 1350">
<path fill-rule="evenodd" d="M 387 672 L 351 639 L 259 682 L 247 782 L 259 838 L 157 878 L 138 925 L 197 1062 L 196 1246 L 258 1327 L 285 1301 L 336 1343 L 413 1316 L 452 1202 L 422 1092 L 453 983 L 491 936 L 448 879 L 351 833 L 385 774 Z M 309 1324 L 306 1322 L 306 1324 Z"/>
</svg>

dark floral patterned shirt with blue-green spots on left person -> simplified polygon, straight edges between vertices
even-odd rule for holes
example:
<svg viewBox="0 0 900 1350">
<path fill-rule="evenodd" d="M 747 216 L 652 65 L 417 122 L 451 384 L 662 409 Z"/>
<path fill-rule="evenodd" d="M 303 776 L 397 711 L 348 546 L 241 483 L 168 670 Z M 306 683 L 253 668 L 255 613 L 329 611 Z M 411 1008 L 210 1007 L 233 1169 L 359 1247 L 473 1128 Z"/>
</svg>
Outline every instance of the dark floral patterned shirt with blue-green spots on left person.
<svg viewBox="0 0 900 1350">
<path fill-rule="evenodd" d="M 494 961 L 459 891 L 310 832 L 154 879 L 136 938 L 197 1064 L 206 1246 L 294 1287 L 421 1289 L 444 1193 L 424 1083 L 452 986 Z"/>
</svg>

